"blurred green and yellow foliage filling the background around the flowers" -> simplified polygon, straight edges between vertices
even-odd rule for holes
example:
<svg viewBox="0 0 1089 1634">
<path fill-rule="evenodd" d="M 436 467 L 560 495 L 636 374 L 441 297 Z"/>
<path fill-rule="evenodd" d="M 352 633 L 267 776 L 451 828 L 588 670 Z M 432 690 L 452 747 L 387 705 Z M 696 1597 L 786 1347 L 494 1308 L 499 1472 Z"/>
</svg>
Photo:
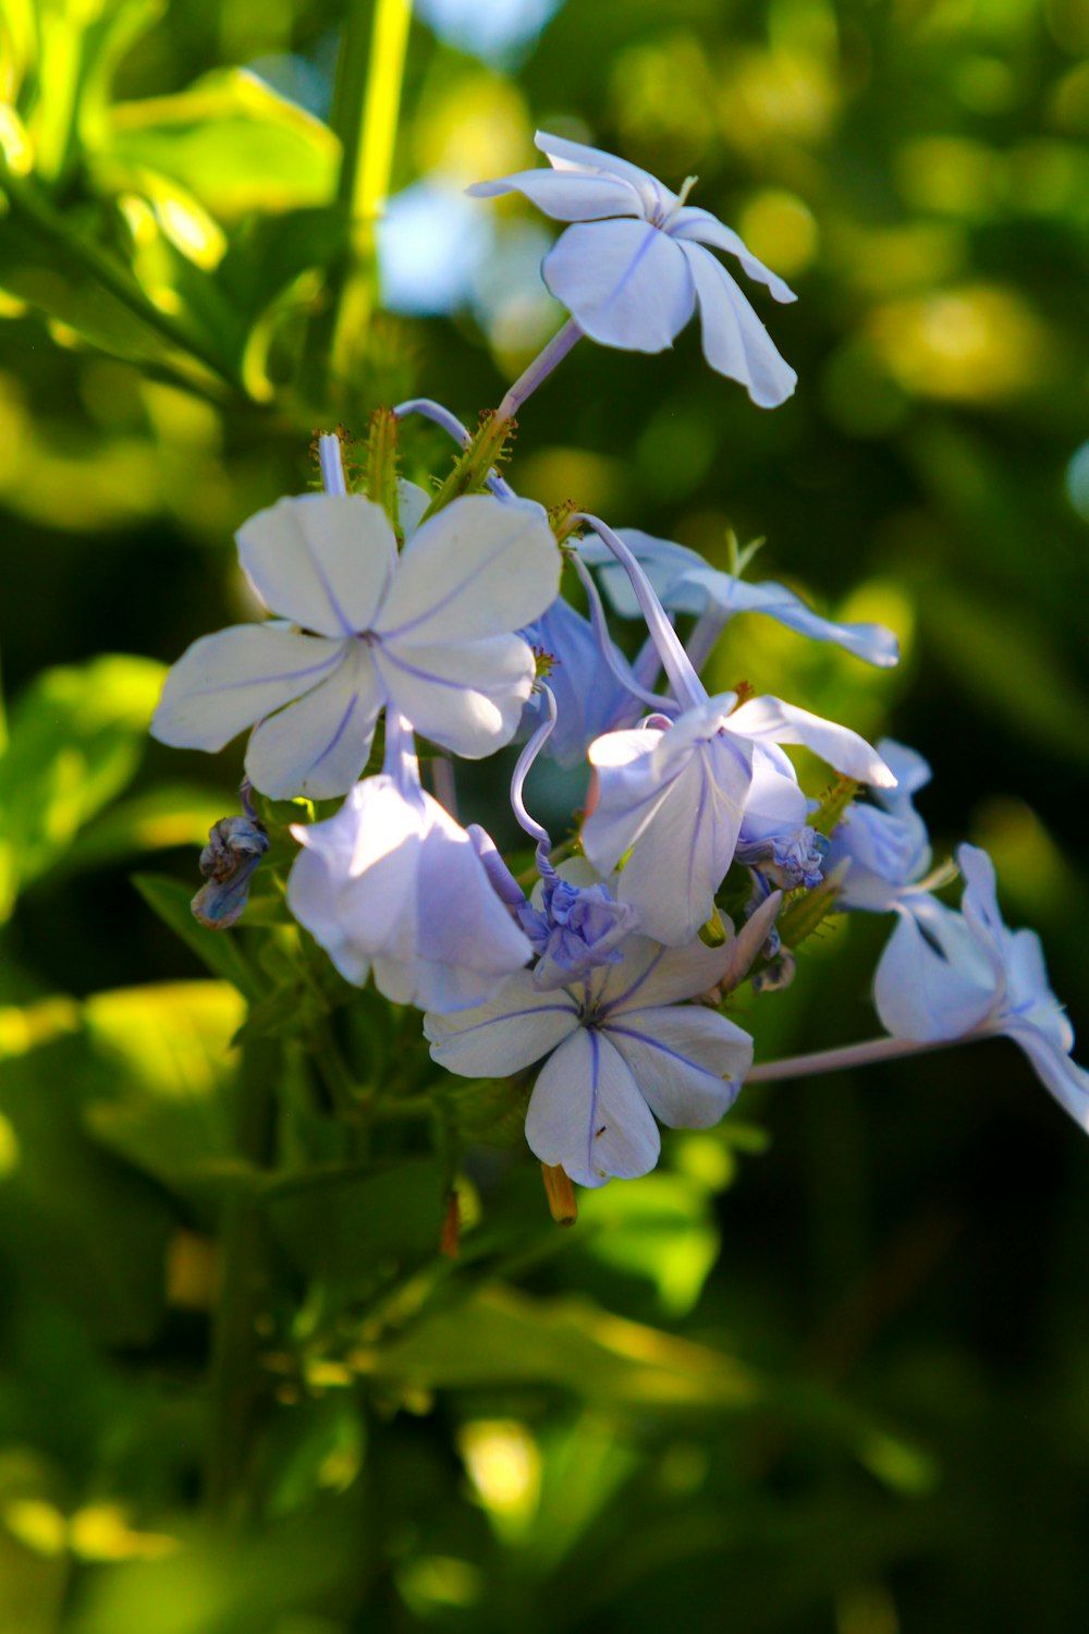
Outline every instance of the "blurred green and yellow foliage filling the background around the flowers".
<svg viewBox="0 0 1089 1634">
<path fill-rule="evenodd" d="M 1011 1046 L 749 1090 L 560 1230 L 518 1085 L 344 1007 L 271 886 L 188 917 L 240 757 L 145 729 L 251 611 L 232 529 L 315 426 L 472 420 L 558 319 L 519 204 L 480 206 L 504 289 L 372 310 L 333 88 L 369 28 L 0 0 L 0 1634 L 1081 1629 L 1089 1181 Z M 723 565 L 766 534 L 758 575 L 893 624 L 891 676 L 749 619 L 713 680 L 918 745 L 939 855 L 988 845 L 1089 1038 L 1084 0 L 568 0 L 490 60 L 413 21 L 393 190 L 534 124 L 699 172 L 798 289 L 800 387 L 753 410 L 691 332 L 580 346 L 519 490 Z M 807 943 L 736 1010 L 759 1051 L 865 1036 L 883 935 Z"/>
</svg>

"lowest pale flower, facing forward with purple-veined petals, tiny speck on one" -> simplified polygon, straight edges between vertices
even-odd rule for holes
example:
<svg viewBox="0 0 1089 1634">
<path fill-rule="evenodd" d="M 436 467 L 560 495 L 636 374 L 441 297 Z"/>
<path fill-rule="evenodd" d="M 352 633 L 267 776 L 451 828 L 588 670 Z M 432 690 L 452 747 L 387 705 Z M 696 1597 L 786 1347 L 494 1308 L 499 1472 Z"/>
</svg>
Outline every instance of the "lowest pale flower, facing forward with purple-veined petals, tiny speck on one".
<svg viewBox="0 0 1089 1634">
<path fill-rule="evenodd" d="M 725 1016 L 681 1000 L 741 979 L 779 907 L 769 899 L 722 948 L 661 948 L 629 936 L 622 962 L 540 992 L 529 971 L 457 1016 L 426 1015 L 433 1057 L 464 1077 L 504 1077 L 542 1056 L 526 1139 L 542 1163 L 583 1186 L 630 1180 L 658 1162 L 655 1118 L 707 1129 L 733 1105 L 753 1039 Z"/>
</svg>

